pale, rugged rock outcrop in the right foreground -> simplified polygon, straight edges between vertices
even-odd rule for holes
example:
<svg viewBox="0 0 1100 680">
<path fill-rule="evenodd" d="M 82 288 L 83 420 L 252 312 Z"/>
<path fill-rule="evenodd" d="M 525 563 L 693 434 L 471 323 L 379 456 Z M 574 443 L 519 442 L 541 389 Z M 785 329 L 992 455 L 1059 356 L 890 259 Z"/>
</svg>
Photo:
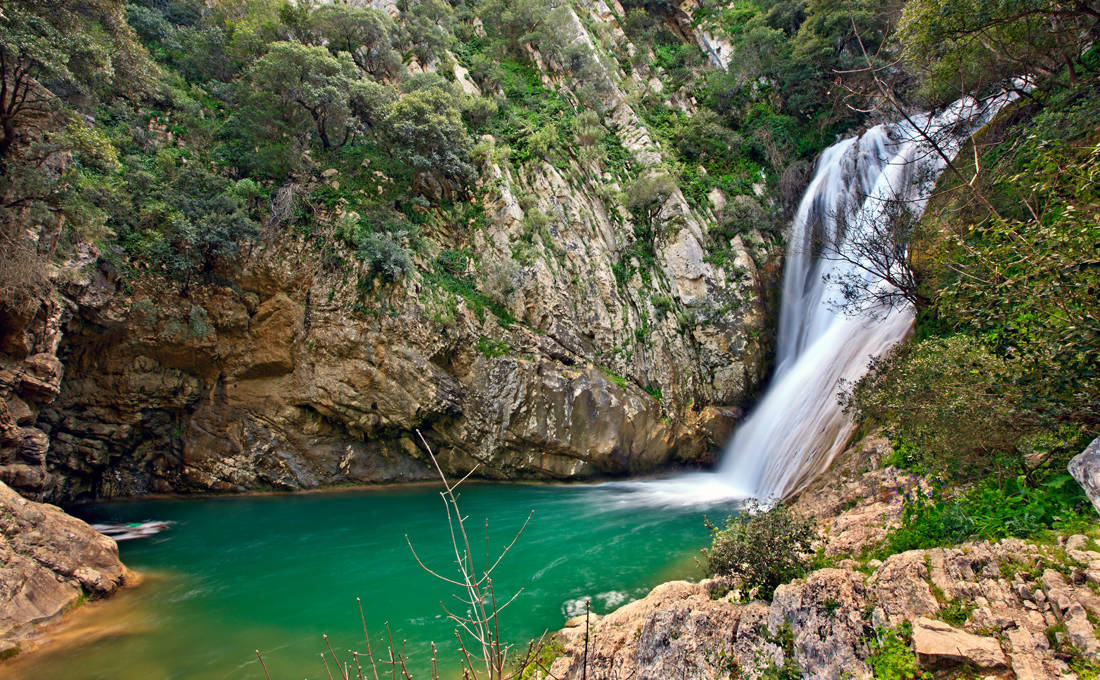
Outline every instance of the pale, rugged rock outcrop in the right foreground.
<svg viewBox="0 0 1100 680">
<path fill-rule="evenodd" d="M 876 569 L 822 569 L 781 585 L 771 603 L 715 597 L 717 582 L 666 583 L 647 597 L 558 634 L 559 679 L 871 678 L 872 640 L 911 627 L 922 668 L 947 677 L 1055 680 L 1097 659 L 1100 552 L 1019 539 L 914 550 Z M 869 573 L 868 573 L 869 571 Z M 946 619 L 946 621 L 945 621 Z M 955 674 L 950 674 L 955 673 Z M 969 677 L 969 676 L 968 676 Z"/>
</svg>

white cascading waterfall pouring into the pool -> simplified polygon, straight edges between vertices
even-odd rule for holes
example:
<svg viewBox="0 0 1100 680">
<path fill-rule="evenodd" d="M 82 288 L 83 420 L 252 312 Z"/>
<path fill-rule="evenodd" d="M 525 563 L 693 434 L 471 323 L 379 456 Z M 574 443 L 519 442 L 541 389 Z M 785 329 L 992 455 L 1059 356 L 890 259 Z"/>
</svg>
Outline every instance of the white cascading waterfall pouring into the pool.
<svg viewBox="0 0 1100 680">
<path fill-rule="evenodd" d="M 889 285 L 867 272 L 873 267 L 856 252 L 862 249 L 847 246 L 873 238 L 876 226 L 891 219 L 892 206 L 920 216 L 947 166 L 944 156 L 954 157 L 1012 98 L 966 98 L 825 150 L 791 226 L 776 371 L 767 392 L 726 447 L 717 472 L 634 485 L 641 496 L 659 503 L 779 498 L 832 462 L 854 429 L 838 401 L 842 381 L 861 377 L 871 358 L 901 340 L 913 322 L 908 305 L 845 309 L 833 282 L 859 281 L 869 290 Z"/>
</svg>

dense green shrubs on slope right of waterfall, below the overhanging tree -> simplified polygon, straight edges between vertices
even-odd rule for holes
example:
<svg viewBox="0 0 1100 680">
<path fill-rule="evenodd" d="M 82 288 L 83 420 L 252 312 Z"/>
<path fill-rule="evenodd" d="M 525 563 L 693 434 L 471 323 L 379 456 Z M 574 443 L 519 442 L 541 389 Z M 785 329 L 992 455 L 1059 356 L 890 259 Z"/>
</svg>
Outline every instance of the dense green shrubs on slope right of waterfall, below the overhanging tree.
<svg viewBox="0 0 1100 680">
<path fill-rule="evenodd" d="M 1079 501 L 1052 486 L 1063 480 L 1052 470 L 1100 421 L 1100 109 L 1090 92 L 1064 88 L 1002 114 L 981 133 L 980 155 L 960 158 L 961 176 L 981 168 L 976 180 L 942 180 L 914 232 L 932 305 L 914 341 L 877 360 L 848 406 L 891 430 L 917 472 L 949 483 L 1019 479 L 1022 489 L 998 482 L 992 496 L 979 487 L 937 502 L 912 522 L 923 527 L 947 513 L 968 518 L 965 526 L 901 544 L 1032 534 Z"/>
</svg>

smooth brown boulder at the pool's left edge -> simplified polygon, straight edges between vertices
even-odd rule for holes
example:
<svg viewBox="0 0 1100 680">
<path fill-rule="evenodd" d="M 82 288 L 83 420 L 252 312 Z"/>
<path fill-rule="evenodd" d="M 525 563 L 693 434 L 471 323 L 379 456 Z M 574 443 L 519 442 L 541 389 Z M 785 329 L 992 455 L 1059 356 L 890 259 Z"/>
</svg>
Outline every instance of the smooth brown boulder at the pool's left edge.
<svg viewBox="0 0 1100 680">
<path fill-rule="evenodd" d="M 2 482 L 0 566 L 0 657 L 18 651 L 41 624 L 133 579 L 113 540 Z"/>
</svg>

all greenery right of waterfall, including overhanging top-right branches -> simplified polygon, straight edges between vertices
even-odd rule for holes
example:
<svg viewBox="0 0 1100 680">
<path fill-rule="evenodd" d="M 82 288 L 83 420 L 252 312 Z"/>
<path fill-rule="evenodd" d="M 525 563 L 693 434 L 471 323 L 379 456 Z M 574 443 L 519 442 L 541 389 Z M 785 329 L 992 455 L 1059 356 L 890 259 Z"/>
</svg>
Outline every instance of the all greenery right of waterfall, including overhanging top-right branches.
<svg viewBox="0 0 1100 680">
<path fill-rule="evenodd" d="M 894 437 L 889 462 L 946 485 L 914 498 L 895 550 L 1072 526 L 1092 511 L 1066 462 L 1100 427 L 1094 12 L 932 4 L 911 3 L 900 31 L 926 66 L 919 96 L 1025 70 L 1035 87 L 945 173 L 912 232 L 914 338 L 848 395 Z"/>
</svg>

